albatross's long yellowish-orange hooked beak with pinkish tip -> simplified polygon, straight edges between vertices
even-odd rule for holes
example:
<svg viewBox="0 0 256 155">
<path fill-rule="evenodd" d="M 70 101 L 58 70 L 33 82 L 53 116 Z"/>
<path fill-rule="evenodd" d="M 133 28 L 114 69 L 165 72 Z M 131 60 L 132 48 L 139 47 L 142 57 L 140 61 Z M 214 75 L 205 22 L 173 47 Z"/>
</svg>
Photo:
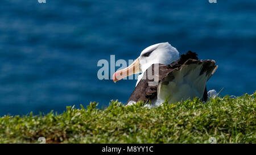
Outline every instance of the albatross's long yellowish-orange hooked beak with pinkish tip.
<svg viewBox="0 0 256 155">
<path fill-rule="evenodd" d="M 138 57 L 135 61 L 133 61 L 133 64 L 131 64 L 127 68 L 121 69 L 115 72 L 113 74 L 113 81 L 117 82 L 118 80 L 128 77 L 132 74 L 137 74 L 139 73 L 139 70 L 140 69 L 139 69 L 139 57 Z"/>
</svg>

